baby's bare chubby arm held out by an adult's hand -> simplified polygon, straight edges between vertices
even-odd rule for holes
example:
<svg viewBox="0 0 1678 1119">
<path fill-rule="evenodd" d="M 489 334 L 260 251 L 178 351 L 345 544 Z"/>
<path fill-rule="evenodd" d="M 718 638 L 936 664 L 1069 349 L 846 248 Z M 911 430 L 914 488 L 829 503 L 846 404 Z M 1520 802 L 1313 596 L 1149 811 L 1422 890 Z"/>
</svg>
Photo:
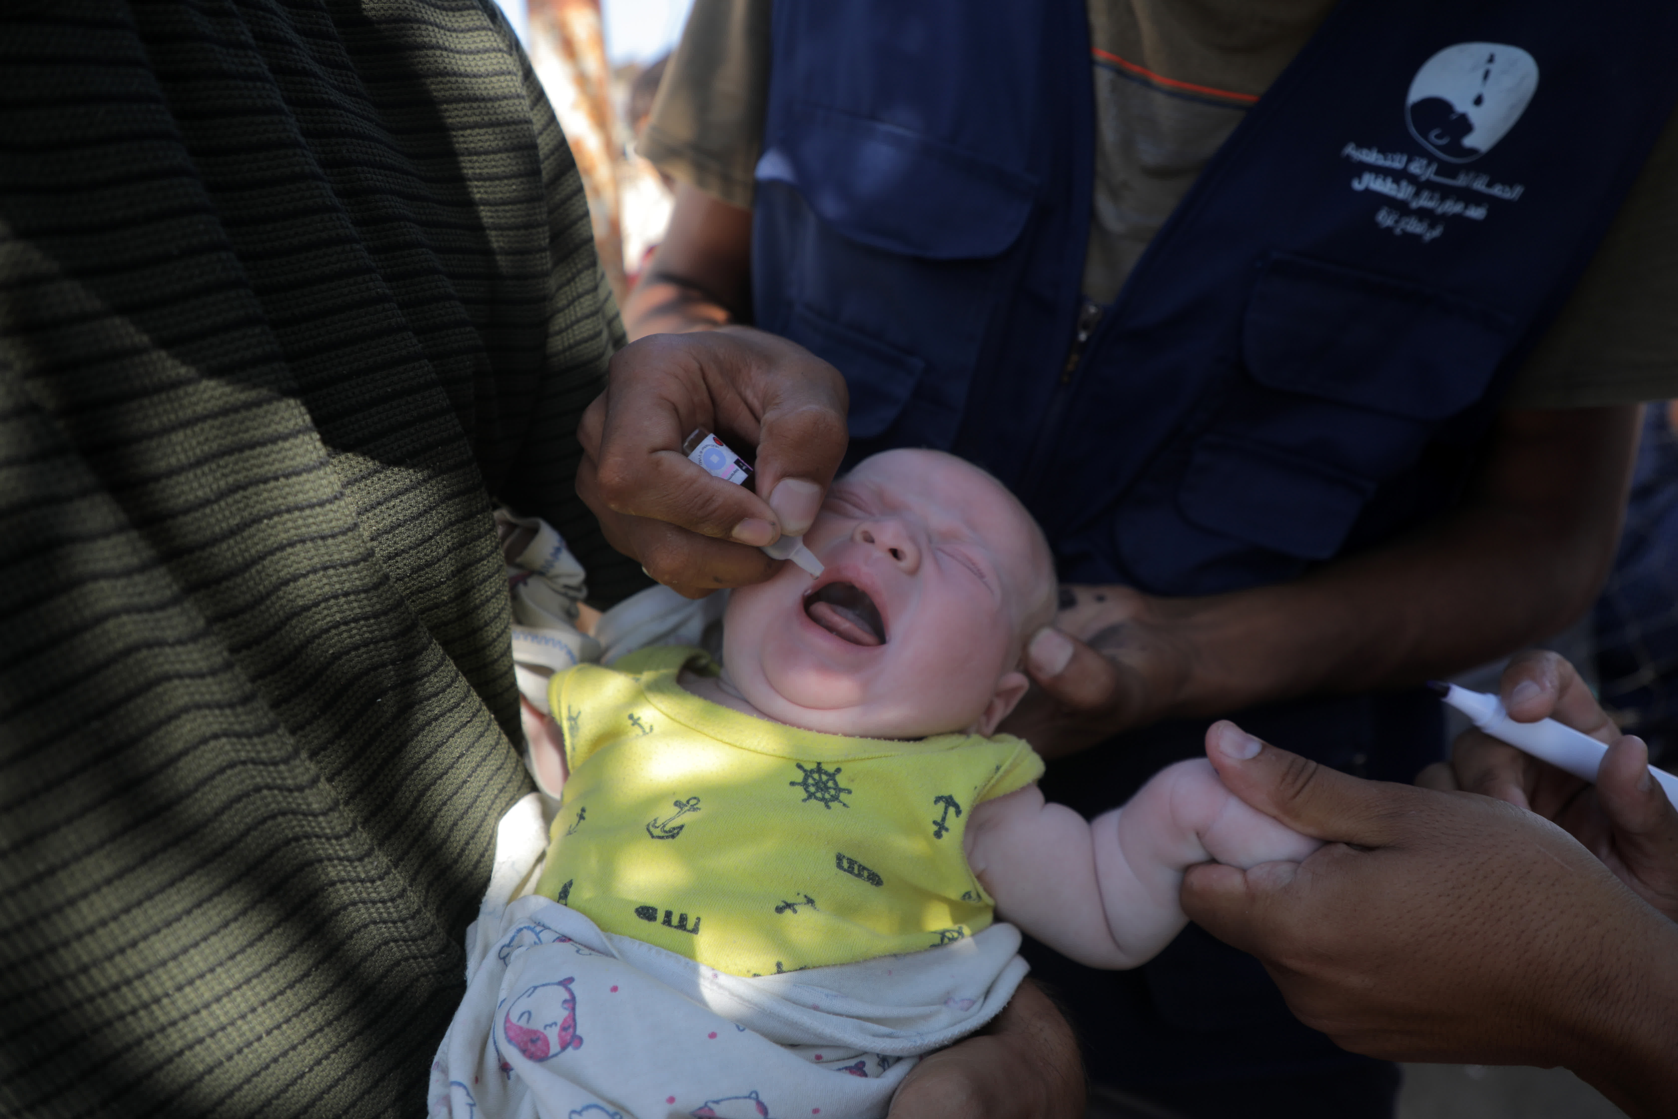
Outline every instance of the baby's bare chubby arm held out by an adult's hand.
<svg viewBox="0 0 1678 1119">
<path fill-rule="evenodd" d="M 1027 785 L 978 805 L 967 829 L 997 913 L 1096 968 L 1134 968 L 1171 943 L 1188 924 L 1178 893 L 1190 866 L 1247 869 L 1321 846 L 1243 804 L 1205 758 L 1161 770 L 1094 820 Z"/>
</svg>

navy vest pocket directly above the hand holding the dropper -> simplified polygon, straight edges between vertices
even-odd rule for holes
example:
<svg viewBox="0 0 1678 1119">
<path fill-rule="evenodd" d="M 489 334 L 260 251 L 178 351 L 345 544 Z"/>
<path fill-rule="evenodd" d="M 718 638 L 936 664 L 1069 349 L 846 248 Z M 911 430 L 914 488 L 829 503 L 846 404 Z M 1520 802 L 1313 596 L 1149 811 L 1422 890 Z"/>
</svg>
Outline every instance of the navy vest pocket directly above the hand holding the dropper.
<svg viewBox="0 0 1678 1119">
<path fill-rule="evenodd" d="M 846 376 L 854 441 L 946 446 L 1005 287 L 997 262 L 1032 215 L 1034 181 L 807 102 L 770 139 L 757 180 L 753 253 L 797 262 L 755 295 L 758 325 Z"/>
</svg>

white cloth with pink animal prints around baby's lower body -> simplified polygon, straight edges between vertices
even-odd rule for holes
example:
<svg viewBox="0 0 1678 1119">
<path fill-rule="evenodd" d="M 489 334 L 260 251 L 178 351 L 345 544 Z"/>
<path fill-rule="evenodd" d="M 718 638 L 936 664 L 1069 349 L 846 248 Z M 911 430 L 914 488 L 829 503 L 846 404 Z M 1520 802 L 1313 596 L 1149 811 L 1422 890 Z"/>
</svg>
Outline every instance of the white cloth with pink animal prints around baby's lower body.
<svg viewBox="0 0 1678 1119">
<path fill-rule="evenodd" d="M 502 819 L 466 933 L 433 1117 L 884 1116 L 916 1055 L 982 1027 L 1025 976 L 1012 924 L 904 956 L 728 975 L 519 898 L 545 847 L 532 794 Z"/>
</svg>

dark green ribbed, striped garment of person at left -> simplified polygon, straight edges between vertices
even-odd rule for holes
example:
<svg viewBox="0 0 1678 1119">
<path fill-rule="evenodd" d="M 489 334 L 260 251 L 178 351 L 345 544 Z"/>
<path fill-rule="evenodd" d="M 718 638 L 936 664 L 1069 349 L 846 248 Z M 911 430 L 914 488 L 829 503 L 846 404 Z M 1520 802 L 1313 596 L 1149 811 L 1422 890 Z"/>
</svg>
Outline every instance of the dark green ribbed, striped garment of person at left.
<svg viewBox="0 0 1678 1119">
<path fill-rule="evenodd" d="M 493 5 L 8 5 L 0 1114 L 421 1114 L 621 342 Z"/>
</svg>

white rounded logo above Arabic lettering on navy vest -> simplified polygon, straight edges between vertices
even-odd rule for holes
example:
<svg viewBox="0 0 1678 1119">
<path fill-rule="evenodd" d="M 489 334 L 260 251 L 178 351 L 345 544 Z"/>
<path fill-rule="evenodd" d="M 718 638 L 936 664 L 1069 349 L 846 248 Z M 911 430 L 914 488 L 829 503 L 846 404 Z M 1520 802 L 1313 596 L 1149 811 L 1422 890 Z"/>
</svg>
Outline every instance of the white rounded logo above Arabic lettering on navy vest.
<svg viewBox="0 0 1678 1119">
<path fill-rule="evenodd" d="M 1520 47 L 1460 42 L 1416 70 L 1404 121 L 1440 159 L 1470 163 L 1509 134 L 1537 87 L 1539 64 Z"/>
</svg>

